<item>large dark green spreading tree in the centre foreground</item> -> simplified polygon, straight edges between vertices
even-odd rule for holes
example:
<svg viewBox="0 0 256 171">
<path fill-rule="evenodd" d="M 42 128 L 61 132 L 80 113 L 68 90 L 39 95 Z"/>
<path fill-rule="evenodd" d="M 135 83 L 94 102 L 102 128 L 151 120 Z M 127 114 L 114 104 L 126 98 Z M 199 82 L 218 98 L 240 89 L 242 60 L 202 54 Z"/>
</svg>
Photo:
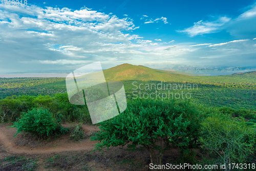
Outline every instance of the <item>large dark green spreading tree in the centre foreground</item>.
<svg viewBox="0 0 256 171">
<path fill-rule="evenodd" d="M 154 155 L 161 164 L 162 155 L 170 145 L 177 145 L 183 152 L 196 141 L 198 128 L 193 127 L 193 120 L 189 121 L 189 117 L 197 118 L 196 110 L 188 106 L 188 102 L 132 101 L 119 116 L 102 122 L 100 131 L 91 140 L 100 141 L 95 146 L 98 150 L 126 144 L 131 150 L 145 148 L 151 162 Z"/>
</svg>

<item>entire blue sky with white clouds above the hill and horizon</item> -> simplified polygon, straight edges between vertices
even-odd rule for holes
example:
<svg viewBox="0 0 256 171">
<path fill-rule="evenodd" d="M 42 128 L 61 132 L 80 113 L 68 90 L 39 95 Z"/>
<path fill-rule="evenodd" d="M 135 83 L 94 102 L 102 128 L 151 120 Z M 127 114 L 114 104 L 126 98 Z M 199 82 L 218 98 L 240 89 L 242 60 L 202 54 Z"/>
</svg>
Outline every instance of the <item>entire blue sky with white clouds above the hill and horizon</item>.
<svg viewBox="0 0 256 171">
<path fill-rule="evenodd" d="M 0 73 L 256 67 L 256 1 L 0 2 Z"/>
</svg>

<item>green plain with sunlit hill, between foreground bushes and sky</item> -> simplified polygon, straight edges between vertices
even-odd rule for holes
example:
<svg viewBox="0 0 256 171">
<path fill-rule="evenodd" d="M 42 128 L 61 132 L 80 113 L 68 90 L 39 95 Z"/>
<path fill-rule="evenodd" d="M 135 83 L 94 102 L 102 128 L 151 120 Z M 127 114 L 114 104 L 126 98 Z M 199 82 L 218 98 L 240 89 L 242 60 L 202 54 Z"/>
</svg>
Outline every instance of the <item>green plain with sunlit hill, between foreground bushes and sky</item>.
<svg viewBox="0 0 256 171">
<path fill-rule="evenodd" d="M 206 106 L 227 106 L 232 108 L 256 108 L 256 71 L 221 76 L 191 76 L 175 71 L 152 69 L 145 66 L 122 64 L 103 71 L 106 80 L 121 81 L 124 84 L 127 99 L 147 98 L 150 93 L 170 94 L 190 93 L 189 99 Z M 137 85 L 177 84 L 175 89 L 142 89 Z M 185 86 L 197 85 L 194 88 Z M 143 87 L 142 86 L 142 87 Z M 181 88 L 182 87 L 182 88 Z M 1 78 L 0 98 L 13 95 L 30 96 L 65 93 L 65 78 Z M 137 92 L 136 92 L 137 91 Z M 141 93 L 141 97 L 139 96 Z M 144 97 L 143 97 L 144 94 Z M 163 95 L 165 96 L 165 94 Z M 153 96 L 154 97 L 154 96 Z M 177 97 L 176 97 L 177 98 Z M 180 97 L 181 98 L 181 97 Z"/>
</svg>

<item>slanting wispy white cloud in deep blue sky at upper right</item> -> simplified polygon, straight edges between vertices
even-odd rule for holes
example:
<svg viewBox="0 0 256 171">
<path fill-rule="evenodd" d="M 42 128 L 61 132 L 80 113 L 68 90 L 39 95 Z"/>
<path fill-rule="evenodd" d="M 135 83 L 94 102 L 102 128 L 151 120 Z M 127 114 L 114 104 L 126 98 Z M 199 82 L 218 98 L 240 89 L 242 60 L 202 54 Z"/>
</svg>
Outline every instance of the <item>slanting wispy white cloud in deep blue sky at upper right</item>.
<svg viewBox="0 0 256 171">
<path fill-rule="evenodd" d="M 206 34 L 206 33 L 214 33 L 219 31 L 220 27 L 230 21 L 231 18 L 226 16 L 219 17 L 218 20 L 212 22 L 203 22 L 202 20 L 194 23 L 194 26 L 186 28 L 184 30 L 178 32 L 185 32 L 189 36 L 194 37 L 196 35 Z"/>
</svg>

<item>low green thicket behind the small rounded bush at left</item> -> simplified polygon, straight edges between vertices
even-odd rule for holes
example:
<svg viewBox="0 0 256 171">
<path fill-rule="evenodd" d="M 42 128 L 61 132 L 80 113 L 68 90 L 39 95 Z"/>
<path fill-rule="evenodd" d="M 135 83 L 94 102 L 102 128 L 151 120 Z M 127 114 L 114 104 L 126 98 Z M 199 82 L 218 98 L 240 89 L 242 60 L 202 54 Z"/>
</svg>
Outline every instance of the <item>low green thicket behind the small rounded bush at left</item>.
<svg viewBox="0 0 256 171">
<path fill-rule="evenodd" d="M 41 107 L 49 109 L 58 123 L 92 123 L 87 106 L 71 104 L 67 93 L 57 93 L 54 97 L 24 95 L 2 99 L 0 100 L 0 122 L 15 122 L 23 112 Z"/>
</svg>

